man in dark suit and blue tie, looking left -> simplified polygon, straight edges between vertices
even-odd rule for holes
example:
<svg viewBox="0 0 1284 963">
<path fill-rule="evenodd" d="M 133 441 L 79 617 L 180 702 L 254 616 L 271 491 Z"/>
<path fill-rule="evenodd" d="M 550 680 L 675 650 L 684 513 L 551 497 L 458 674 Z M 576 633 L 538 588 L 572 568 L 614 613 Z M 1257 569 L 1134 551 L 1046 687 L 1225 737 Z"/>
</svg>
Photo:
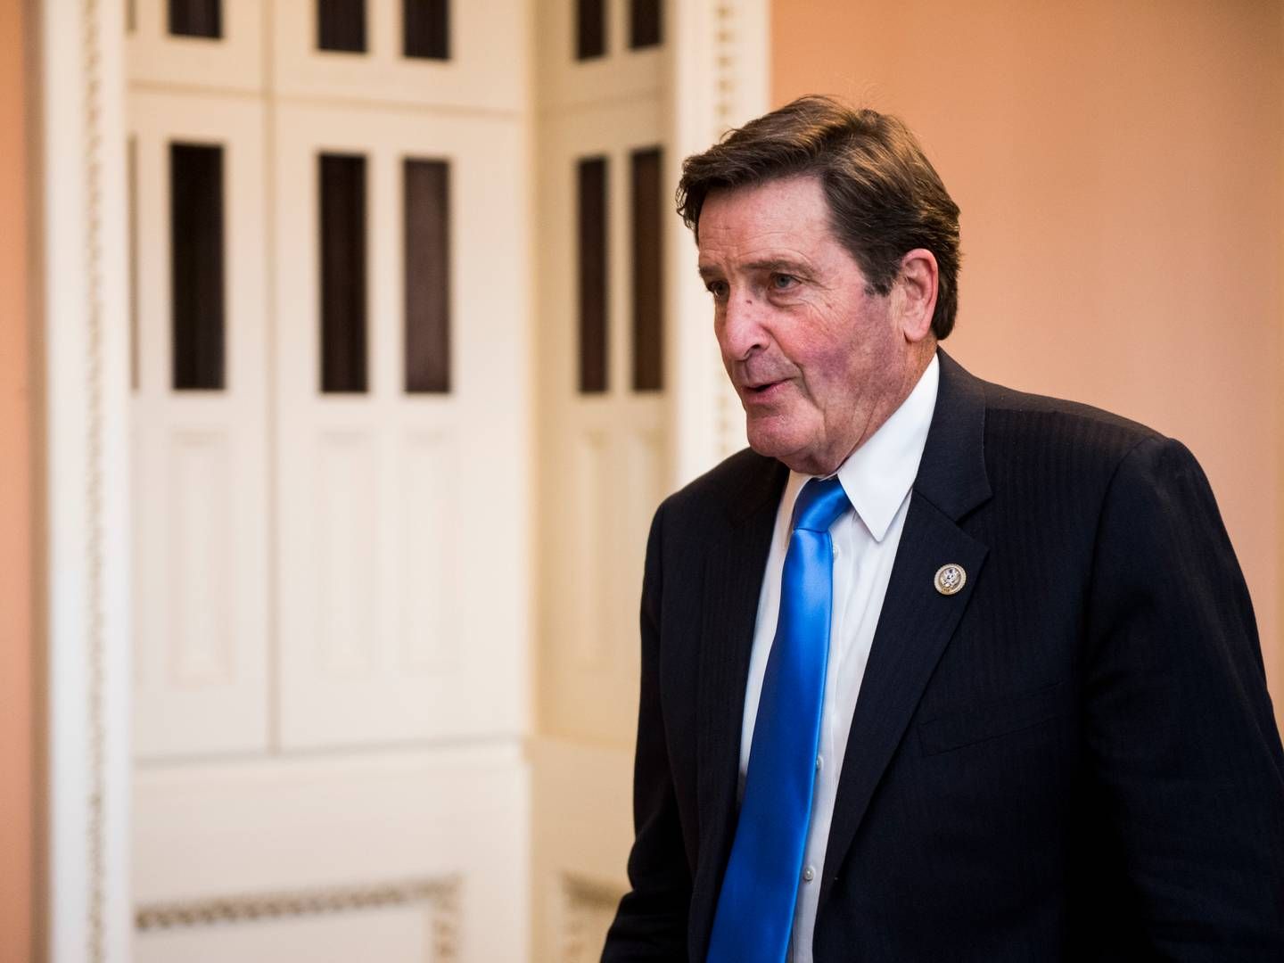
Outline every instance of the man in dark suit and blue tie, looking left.
<svg viewBox="0 0 1284 963">
<path fill-rule="evenodd" d="M 1284 959 L 1284 752 L 1179 443 L 967 374 L 958 208 L 804 98 L 688 158 L 752 451 L 656 512 L 603 960 Z"/>
</svg>

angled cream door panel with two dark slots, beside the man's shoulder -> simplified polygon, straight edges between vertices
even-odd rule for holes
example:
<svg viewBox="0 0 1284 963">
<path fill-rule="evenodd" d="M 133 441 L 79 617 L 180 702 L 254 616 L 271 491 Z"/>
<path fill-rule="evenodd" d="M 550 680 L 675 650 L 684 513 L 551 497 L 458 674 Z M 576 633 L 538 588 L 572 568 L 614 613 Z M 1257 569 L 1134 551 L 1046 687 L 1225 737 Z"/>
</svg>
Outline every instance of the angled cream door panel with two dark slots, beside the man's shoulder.
<svg viewBox="0 0 1284 963">
<path fill-rule="evenodd" d="M 541 501 L 548 559 L 541 570 L 541 723 L 550 733 L 620 747 L 632 745 L 637 723 L 646 534 L 670 478 L 668 395 L 633 388 L 630 160 L 663 145 L 661 118 L 657 100 L 643 98 L 559 113 L 541 131 L 539 370 L 547 415 L 539 451 L 542 490 L 550 493 Z M 587 158 L 605 159 L 607 184 L 607 376 L 605 390 L 594 392 L 580 390 L 577 336 L 577 177 Z"/>
</svg>

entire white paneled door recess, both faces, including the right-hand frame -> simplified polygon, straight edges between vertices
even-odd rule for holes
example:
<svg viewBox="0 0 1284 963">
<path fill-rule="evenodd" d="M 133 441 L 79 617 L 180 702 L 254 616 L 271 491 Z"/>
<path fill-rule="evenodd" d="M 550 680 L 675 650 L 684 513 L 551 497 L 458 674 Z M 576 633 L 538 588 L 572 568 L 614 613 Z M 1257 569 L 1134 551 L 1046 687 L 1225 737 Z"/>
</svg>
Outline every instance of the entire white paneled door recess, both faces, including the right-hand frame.
<svg viewBox="0 0 1284 963">
<path fill-rule="evenodd" d="M 130 4 L 136 959 L 597 958 L 765 9 Z"/>
</svg>

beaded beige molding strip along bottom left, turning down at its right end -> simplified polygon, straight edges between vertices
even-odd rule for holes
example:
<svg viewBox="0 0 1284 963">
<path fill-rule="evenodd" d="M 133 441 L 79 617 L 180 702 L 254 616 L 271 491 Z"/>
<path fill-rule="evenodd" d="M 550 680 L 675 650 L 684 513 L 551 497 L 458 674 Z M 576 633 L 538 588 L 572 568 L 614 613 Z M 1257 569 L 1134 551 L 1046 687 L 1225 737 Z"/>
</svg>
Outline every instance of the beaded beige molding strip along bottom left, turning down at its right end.
<svg viewBox="0 0 1284 963">
<path fill-rule="evenodd" d="M 145 933 L 155 930 L 252 923 L 261 919 L 357 913 L 422 903 L 431 913 L 431 959 L 452 963 L 460 958 L 461 889 L 461 878 L 451 876 L 150 903 L 135 910 L 134 926 L 137 932 Z"/>
</svg>

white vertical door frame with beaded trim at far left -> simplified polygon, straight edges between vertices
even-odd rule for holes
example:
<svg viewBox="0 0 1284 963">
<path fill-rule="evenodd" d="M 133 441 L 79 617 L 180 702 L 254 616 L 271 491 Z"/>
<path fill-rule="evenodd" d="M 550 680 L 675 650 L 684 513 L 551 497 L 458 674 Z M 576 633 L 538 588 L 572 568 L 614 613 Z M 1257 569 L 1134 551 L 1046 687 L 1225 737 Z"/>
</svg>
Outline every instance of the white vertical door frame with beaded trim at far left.
<svg viewBox="0 0 1284 963">
<path fill-rule="evenodd" d="M 123 0 L 32 0 L 48 636 L 45 958 L 130 959 Z"/>
</svg>

